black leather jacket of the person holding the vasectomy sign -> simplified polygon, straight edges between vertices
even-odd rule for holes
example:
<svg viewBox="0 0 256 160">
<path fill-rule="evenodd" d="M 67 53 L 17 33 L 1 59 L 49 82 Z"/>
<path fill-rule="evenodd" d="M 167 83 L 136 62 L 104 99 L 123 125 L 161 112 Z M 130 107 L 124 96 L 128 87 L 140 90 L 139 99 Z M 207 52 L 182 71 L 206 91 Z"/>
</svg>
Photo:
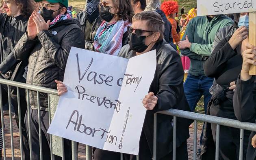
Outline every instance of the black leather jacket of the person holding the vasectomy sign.
<svg viewBox="0 0 256 160">
<path fill-rule="evenodd" d="M 158 100 L 153 110 L 147 110 L 143 124 L 143 131 L 152 155 L 154 113 L 171 108 L 190 111 L 187 99 L 184 95 L 184 72 L 180 55 L 167 42 L 163 41 L 155 44 L 152 50 L 154 49 L 156 50 L 157 66 L 149 92 L 153 92 Z M 121 48 L 118 56 L 130 59 L 136 56 L 136 53 L 130 49 L 129 45 L 126 45 Z M 163 114 L 158 114 L 157 116 L 157 159 L 163 158 L 172 151 L 172 120 L 172 116 Z M 177 118 L 177 147 L 189 138 L 189 124 L 191 124 L 191 121 Z M 143 147 L 143 145 L 147 144 L 140 144 L 140 147 Z M 140 155 L 141 154 L 143 153 L 140 153 Z"/>
</svg>

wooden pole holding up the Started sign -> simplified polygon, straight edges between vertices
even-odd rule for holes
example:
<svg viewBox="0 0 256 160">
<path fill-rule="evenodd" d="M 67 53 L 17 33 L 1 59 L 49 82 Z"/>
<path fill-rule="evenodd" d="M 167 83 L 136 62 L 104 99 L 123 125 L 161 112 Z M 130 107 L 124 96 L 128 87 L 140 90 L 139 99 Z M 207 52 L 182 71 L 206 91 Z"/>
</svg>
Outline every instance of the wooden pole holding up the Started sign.
<svg viewBox="0 0 256 160">
<path fill-rule="evenodd" d="M 249 43 L 256 46 L 256 10 L 249 13 Z M 256 75 L 256 66 L 250 65 L 250 75 Z"/>
</svg>

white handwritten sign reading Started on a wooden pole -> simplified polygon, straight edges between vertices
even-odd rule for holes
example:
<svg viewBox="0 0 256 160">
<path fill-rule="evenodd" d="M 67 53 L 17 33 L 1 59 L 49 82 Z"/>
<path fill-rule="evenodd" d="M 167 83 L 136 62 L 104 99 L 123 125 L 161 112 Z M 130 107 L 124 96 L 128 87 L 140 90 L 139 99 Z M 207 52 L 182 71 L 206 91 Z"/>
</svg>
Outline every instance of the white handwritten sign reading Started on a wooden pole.
<svg viewBox="0 0 256 160">
<path fill-rule="evenodd" d="M 221 15 L 251 12 L 256 0 L 197 0 L 197 15 Z"/>
</svg>

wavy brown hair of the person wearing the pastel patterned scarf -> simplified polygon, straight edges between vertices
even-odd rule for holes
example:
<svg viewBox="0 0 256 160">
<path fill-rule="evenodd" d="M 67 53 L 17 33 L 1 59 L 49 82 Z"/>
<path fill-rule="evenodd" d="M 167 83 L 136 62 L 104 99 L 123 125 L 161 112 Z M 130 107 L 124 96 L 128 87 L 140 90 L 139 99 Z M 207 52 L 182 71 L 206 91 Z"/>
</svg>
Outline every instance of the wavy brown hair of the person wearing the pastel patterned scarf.
<svg viewBox="0 0 256 160">
<path fill-rule="evenodd" d="M 100 0 L 102 2 L 103 0 Z M 116 21 L 120 21 L 123 19 L 126 21 L 128 19 L 129 22 L 132 22 L 132 17 L 134 16 L 134 12 L 132 10 L 132 4 L 130 0 L 112 0 L 115 5 L 115 19 Z"/>
</svg>

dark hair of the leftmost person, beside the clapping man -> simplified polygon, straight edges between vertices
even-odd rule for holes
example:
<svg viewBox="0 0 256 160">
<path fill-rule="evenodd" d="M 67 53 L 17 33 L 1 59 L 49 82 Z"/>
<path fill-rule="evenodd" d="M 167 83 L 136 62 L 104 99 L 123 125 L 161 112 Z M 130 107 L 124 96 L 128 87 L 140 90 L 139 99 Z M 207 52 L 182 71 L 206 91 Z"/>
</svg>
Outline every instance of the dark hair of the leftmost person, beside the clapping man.
<svg viewBox="0 0 256 160">
<path fill-rule="evenodd" d="M 29 17 L 33 11 L 35 10 L 36 6 L 33 4 L 32 0 L 8 0 L 10 3 L 15 2 L 17 5 L 17 8 L 20 9 L 20 13 L 24 17 Z M 1 0 L 1 3 L 3 4 L 4 1 Z"/>
</svg>

